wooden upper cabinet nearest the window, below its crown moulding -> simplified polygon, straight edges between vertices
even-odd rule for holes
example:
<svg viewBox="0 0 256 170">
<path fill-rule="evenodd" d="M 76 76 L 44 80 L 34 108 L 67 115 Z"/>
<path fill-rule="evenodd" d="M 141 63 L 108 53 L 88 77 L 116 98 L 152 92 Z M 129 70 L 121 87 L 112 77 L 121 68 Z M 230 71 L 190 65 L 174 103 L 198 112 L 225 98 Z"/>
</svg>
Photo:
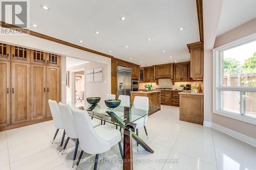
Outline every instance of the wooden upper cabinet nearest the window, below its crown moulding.
<svg viewBox="0 0 256 170">
<path fill-rule="evenodd" d="M 203 45 L 190 49 L 190 77 L 194 80 L 203 80 L 203 77 L 204 77 Z"/>
</svg>

